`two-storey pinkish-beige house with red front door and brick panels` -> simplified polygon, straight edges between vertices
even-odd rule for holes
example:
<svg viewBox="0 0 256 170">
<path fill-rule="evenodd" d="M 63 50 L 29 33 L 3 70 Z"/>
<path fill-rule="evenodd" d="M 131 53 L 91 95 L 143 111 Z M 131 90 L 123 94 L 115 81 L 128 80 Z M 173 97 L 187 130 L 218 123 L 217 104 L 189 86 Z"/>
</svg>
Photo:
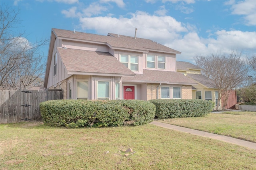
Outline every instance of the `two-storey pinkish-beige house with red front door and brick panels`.
<svg viewBox="0 0 256 170">
<path fill-rule="evenodd" d="M 52 29 L 44 87 L 64 99 L 192 99 L 197 83 L 176 72 L 176 54 L 149 39 Z"/>
</svg>

